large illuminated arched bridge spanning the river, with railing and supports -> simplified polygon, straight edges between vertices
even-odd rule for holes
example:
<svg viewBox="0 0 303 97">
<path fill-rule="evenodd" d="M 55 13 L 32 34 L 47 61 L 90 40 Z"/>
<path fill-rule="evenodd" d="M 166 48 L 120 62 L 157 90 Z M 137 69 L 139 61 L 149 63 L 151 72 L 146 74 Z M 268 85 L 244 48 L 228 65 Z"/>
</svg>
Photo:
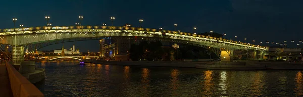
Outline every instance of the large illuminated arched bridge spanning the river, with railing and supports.
<svg viewBox="0 0 303 97">
<path fill-rule="evenodd" d="M 138 39 L 171 41 L 211 49 L 221 59 L 231 59 L 234 50 L 252 50 L 263 55 L 267 49 L 259 45 L 253 45 L 228 39 L 204 36 L 186 32 L 169 31 L 163 29 L 115 27 L 115 26 L 55 26 L 55 27 L 30 27 L 0 30 L 1 43 L 13 47 L 13 59 L 21 55 L 14 54 L 15 44 L 17 50 L 22 51 L 27 45 L 45 47 L 60 42 L 99 40 L 104 37 L 112 39 Z M 15 40 L 16 37 L 16 40 Z M 21 50 L 22 49 L 22 50 Z M 18 57 L 18 60 L 22 59 Z M 15 59 L 17 60 L 17 59 Z"/>
</svg>

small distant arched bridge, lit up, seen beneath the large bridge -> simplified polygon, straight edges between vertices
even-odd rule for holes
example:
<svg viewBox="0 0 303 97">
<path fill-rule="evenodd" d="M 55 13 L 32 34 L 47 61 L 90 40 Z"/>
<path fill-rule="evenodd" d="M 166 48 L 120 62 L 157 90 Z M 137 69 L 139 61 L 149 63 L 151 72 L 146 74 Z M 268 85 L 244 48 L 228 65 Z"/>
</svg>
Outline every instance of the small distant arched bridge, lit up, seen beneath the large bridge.
<svg viewBox="0 0 303 97">
<path fill-rule="evenodd" d="M 83 59 L 86 58 L 99 58 L 99 56 L 41 56 L 39 58 L 45 58 L 48 61 L 61 59 L 61 58 L 70 58 L 70 59 L 76 59 L 82 61 Z"/>
</svg>

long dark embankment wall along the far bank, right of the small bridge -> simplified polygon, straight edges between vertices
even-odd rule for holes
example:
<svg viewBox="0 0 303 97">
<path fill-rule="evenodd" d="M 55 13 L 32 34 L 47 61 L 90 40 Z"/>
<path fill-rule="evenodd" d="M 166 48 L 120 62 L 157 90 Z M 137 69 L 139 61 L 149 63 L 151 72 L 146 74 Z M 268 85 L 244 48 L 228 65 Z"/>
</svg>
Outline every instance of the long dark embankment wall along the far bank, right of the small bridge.
<svg viewBox="0 0 303 97">
<path fill-rule="evenodd" d="M 89 61 L 94 64 L 126 65 L 126 66 L 156 66 L 156 67 L 187 67 L 198 69 L 216 69 L 216 70 L 303 70 L 300 63 L 288 62 L 260 62 L 260 61 L 242 61 L 242 62 L 153 62 L 153 61 Z"/>
</svg>

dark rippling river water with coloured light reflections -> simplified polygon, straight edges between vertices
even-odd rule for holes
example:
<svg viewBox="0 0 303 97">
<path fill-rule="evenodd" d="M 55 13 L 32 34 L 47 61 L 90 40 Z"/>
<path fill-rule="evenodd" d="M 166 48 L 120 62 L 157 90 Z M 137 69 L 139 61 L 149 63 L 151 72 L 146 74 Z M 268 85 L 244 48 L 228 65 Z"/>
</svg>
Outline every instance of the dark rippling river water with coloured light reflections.
<svg viewBox="0 0 303 97">
<path fill-rule="evenodd" d="M 303 96 L 303 71 L 36 63 L 45 96 Z"/>
</svg>

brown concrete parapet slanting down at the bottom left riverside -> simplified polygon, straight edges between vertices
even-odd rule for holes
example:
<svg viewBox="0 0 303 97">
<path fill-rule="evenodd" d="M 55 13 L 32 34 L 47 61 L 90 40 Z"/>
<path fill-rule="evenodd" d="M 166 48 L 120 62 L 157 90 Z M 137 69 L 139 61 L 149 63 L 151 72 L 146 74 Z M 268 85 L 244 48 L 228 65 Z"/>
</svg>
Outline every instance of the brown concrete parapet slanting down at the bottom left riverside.
<svg viewBox="0 0 303 97">
<path fill-rule="evenodd" d="M 11 89 L 14 97 L 40 97 L 43 93 L 24 76 L 22 76 L 9 62 L 6 62 Z"/>
</svg>

